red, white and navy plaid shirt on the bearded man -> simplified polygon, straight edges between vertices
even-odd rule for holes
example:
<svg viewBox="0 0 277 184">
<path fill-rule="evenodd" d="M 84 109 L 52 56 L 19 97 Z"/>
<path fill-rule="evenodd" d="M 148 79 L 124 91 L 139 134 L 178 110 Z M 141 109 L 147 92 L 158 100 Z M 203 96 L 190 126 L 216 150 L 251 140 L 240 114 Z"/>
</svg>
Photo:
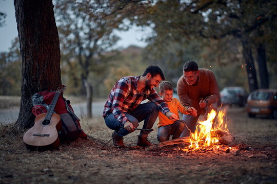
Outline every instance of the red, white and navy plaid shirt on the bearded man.
<svg viewBox="0 0 277 184">
<path fill-rule="evenodd" d="M 137 81 L 140 77 L 123 77 L 114 84 L 104 106 L 103 117 L 113 113 L 114 117 L 124 124 L 128 121 L 124 112 L 130 113 L 145 99 L 154 102 L 164 114 L 170 111 L 167 103 L 161 99 L 154 88 L 152 90 L 144 88 L 141 93 L 137 91 Z"/>
</svg>

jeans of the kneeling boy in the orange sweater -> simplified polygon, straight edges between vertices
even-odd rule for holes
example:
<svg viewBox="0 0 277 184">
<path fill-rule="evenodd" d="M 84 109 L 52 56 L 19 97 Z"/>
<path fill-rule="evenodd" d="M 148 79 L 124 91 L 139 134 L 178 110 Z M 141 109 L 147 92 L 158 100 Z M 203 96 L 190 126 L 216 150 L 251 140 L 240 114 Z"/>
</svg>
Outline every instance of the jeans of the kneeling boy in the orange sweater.
<svg viewBox="0 0 277 184">
<path fill-rule="evenodd" d="M 161 126 L 157 133 L 157 140 L 160 142 L 168 141 L 170 135 L 172 135 L 172 140 L 179 138 L 185 127 L 184 120 L 175 121 L 171 125 Z"/>
</svg>

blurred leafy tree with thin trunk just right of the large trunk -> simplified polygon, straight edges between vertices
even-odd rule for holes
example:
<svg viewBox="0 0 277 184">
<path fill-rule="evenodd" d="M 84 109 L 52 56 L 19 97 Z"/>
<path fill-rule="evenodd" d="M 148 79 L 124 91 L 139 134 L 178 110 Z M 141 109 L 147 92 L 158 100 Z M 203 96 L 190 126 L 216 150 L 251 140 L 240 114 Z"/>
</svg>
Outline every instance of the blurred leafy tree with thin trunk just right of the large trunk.
<svg viewBox="0 0 277 184">
<path fill-rule="evenodd" d="M 102 1 L 96 3 L 100 2 Z M 79 93 L 87 97 L 87 116 L 91 118 L 92 85 L 89 75 L 103 73 L 107 67 L 108 63 L 104 62 L 102 53 L 110 51 L 118 40 L 112 31 L 122 19 L 100 18 L 97 12 L 86 11 L 87 4 L 71 0 L 56 1 L 56 8 L 63 56 L 69 71 L 76 71 L 78 68 L 78 71 L 71 75 L 73 81 L 81 80 Z M 76 87 L 77 83 L 74 82 L 74 85 Z"/>
</svg>

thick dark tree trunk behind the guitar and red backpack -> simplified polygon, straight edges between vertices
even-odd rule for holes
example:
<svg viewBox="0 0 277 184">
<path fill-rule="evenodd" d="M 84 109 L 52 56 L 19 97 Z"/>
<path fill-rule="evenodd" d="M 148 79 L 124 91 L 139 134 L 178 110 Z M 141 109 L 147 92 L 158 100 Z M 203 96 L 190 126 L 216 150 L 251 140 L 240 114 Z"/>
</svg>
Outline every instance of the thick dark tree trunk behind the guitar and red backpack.
<svg viewBox="0 0 277 184">
<path fill-rule="evenodd" d="M 33 125 L 31 96 L 61 82 L 60 43 L 51 0 L 14 0 L 22 57 L 21 104 L 16 125 Z"/>
</svg>

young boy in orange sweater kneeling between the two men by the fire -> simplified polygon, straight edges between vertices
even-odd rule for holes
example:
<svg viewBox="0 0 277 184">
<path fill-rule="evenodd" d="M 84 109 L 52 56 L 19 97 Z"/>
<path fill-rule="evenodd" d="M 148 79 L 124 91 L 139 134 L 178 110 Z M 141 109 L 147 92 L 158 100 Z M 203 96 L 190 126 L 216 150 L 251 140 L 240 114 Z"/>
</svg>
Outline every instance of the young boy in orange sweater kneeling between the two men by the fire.
<svg viewBox="0 0 277 184">
<path fill-rule="evenodd" d="M 197 110 L 193 107 L 183 106 L 180 101 L 173 97 L 173 86 L 170 82 L 164 81 L 159 85 L 160 95 L 162 99 L 168 104 L 171 112 L 175 113 L 179 118 L 179 112 L 183 114 L 190 114 L 191 116 L 197 116 Z M 179 138 L 183 130 L 186 128 L 184 120 L 169 120 L 163 113 L 159 112 L 159 122 L 157 140 L 160 142 L 168 141 L 169 136 L 172 135 L 172 139 Z"/>
</svg>

